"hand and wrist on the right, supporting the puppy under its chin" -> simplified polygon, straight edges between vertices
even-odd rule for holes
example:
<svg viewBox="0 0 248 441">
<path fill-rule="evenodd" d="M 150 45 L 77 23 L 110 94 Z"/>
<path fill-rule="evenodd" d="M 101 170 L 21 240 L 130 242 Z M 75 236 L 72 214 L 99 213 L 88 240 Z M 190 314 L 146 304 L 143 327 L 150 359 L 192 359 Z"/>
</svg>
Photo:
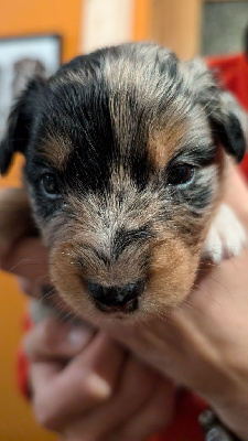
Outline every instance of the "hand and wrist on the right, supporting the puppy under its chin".
<svg viewBox="0 0 248 441">
<path fill-rule="evenodd" d="M 228 202 L 248 226 L 247 189 L 237 174 Z M 115 336 L 134 353 L 204 397 L 242 440 L 248 439 L 247 262 L 244 250 L 219 267 L 203 269 L 190 297 L 165 320 L 115 329 Z M 114 332 L 110 325 L 108 331 Z"/>
</svg>

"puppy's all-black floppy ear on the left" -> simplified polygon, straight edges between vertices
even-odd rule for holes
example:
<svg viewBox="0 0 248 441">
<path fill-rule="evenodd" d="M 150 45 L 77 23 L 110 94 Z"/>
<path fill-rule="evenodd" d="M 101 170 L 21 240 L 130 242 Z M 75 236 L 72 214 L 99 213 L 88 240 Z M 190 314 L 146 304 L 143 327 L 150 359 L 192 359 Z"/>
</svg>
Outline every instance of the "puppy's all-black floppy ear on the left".
<svg viewBox="0 0 248 441">
<path fill-rule="evenodd" d="M 32 125 L 45 79 L 36 77 L 29 82 L 10 112 L 6 133 L 0 142 L 0 173 L 4 174 L 15 152 L 25 154 Z"/>
</svg>

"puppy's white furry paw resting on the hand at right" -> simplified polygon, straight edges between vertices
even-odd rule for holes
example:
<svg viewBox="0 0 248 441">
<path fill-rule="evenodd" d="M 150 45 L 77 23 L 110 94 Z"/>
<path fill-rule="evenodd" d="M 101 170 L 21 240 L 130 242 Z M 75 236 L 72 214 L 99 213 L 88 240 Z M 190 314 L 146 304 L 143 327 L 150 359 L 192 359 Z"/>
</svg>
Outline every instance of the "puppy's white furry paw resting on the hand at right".
<svg viewBox="0 0 248 441">
<path fill-rule="evenodd" d="M 238 256 L 247 246 L 247 235 L 233 209 L 222 204 L 204 243 L 202 257 L 214 263 Z"/>
</svg>

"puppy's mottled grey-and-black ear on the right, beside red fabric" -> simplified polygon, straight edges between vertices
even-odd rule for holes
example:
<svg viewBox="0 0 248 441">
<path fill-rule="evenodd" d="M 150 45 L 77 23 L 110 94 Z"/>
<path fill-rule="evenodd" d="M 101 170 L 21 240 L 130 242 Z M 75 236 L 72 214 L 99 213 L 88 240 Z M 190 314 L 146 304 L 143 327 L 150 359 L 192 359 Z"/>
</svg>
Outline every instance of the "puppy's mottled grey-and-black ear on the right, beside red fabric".
<svg viewBox="0 0 248 441">
<path fill-rule="evenodd" d="M 203 61 L 193 60 L 184 66 L 188 74 L 188 86 L 195 99 L 203 106 L 213 137 L 233 155 L 242 160 L 248 141 L 248 119 L 234 96 L 218 85 L 217 77 Z"/>
</svg>

